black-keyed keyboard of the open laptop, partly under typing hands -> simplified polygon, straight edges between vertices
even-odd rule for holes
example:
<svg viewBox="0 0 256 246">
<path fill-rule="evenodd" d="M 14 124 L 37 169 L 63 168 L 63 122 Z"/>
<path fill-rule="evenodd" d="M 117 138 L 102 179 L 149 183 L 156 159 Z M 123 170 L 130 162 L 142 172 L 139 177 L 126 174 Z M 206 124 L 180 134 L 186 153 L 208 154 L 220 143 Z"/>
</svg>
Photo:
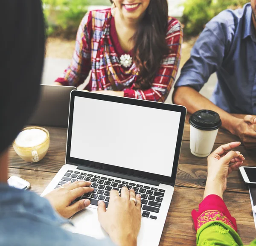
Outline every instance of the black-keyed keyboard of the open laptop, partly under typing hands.
<svg viewBox="0 0 256 246">
<path fill-rule="evenodd" d="M 79 201 L 80 199 L 89 199 L 91 205 L 97 206 L 98 201 L 102 200 L 105 202 L 106 208 L 108 208 L 110 191 L 113 189 L 118 191 L 120 194 L 122 187 L 126 186 L 128 189 L 133 188 L 135 194 L 140 194 L 141 208 L 143 211 L 142 216 L 146 218 L 149 217 L 153 220 L 156 220 L 157 216 L 151 215 L 151 212 L 159 213 L 165 194 L 165 190 L 148 185 L 141 185 L 137 184 L 136 182 L 121 181 L 119 179 L 107 178 L 73 170 L 67 170 L 67 173 L 60 180 L 60 182 L 58 182 L 58 185 L 55 187 L 55 189 L 61 185 L 64 185 L 67 181 L 73 183 L 77 180 L 92 182 L 91 187 L 94 188 L 94 191 L 92 193 L 84 194 L 82 197 L 78 197 L 73 201 L 73 203 Z"/>
</svg>

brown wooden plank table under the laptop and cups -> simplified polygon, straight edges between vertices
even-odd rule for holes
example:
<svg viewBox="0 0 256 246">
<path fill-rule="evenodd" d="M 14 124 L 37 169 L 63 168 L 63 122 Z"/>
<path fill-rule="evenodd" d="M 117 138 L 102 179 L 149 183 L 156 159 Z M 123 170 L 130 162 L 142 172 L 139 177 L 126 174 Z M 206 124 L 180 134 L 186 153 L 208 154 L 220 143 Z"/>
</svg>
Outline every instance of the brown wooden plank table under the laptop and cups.
<svg viewBox="0 0 256 246">
<path fill-rule="evenodd" d="M 243 117 L 242 115 L 237 115 Z M 189 149 L 189 116 L 183 136 L 180 162 L 178 166 L 175 192 L 169 208 L 160 245 L 195 245 L 196 233 L 192 223 L 191 211 L 198 208 L 204 193 L 207 178 L 207 158 L 193 156 Z M 10 148 L 9 175 L 17 175 L 31 183 L 32 191 L 41 194 L 65 163 L 67 129 L 46 127 L 50 133 L 50 147 L 41 162 L 24 162 Z M 214 148 L 227 142 L 239 140 L 224 129 L 220 129 Z M 245 156 L 245 166 L 256 165 L 256 151 L 248 151 L 244 146 L 236 150 Z M 230 213 L 236 218 L 238 232 L 244 244 L 249 244 L 256 237 L 250 197 L 239 172 L 230 174 L 224 201 Z"/>
</svg>

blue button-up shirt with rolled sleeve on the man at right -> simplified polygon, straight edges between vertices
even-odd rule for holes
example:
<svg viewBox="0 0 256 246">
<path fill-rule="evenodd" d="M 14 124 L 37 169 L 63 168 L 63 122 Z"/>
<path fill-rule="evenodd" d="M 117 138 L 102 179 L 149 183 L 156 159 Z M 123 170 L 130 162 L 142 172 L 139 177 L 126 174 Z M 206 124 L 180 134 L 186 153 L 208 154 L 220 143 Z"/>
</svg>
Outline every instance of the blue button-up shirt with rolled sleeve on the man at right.
<svg viewBox="0 0 256 246">
<path fill-rule="evenodd" d="M 207 23 L 175 87 L 200 91 L 217 72 L 211 101 L 229 113 L 256 114 L 256 36 L 250 3 Z"/>
</svg>

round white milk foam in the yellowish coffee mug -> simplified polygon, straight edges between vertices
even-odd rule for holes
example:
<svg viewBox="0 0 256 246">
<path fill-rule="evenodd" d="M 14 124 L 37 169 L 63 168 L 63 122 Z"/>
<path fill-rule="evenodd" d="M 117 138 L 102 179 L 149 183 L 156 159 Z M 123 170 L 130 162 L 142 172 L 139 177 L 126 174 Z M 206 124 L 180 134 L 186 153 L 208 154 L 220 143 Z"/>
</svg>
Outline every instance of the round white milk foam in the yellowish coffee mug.
<svg viewBox="0 0 256 246">
<path fill-rule="evenodd" d="M 40 145 L 47 139 L 47 133 L 39 129 L 26 129 L 23 130 L 15 139 L 15 144 L 23 147 L 30 148 Z"/>
</svg>

